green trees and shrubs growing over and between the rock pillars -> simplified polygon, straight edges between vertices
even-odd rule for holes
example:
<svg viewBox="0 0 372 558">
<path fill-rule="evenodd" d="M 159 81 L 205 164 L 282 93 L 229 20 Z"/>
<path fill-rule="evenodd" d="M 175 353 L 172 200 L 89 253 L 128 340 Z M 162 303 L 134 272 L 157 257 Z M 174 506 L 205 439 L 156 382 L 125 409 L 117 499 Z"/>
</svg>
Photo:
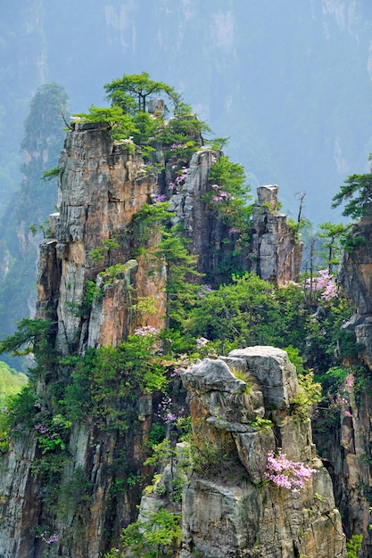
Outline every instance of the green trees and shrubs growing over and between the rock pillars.
<svg viewBox="0 0 372 558">
<path fill-rule="evenodd" d="M 141 76 L 148 91 L 153 82 L 147 75 Z M 119 140 L 136 134 L 149 167 L 158 165 L 156 172 L 161 175 L 169 160 L 175 165 L 172 185 L 180 190 L 185 181 L 186 165 L 203 143 L 205 126 L 194 118 L 184 103 L 178 103 L 171 89 L 172 99 L 178 103 L 175 103 L 175 118 L 168 123 L 162 115 L 151 118 L 142 111 L 147 93 L 142 92 L 145 96 L 140 95 L 138 103 L 130 103 L 126 96 L 128 81 L 123 79 L 123 82 L 124 90 L 115 93 L 115 102 L 119 95 L 122 106 L 118 102 L 109 110 L 93 108 L 80 118 L 99 117 L 109 122 Z M 119 122 L 118 127 L 116 122 Z M 133 149 L 136 149 L 135 144 Z M 243 168 L 221 156 L 212 167 L 210 185 L 213 193 L 207 196 L 206 202 L 218 204 L 219 217 L 247 241 L 249 188 L 245 185 Z M 351 382 L 357 393 L 371 390 L 366 371 L 355 365 L 360 349 L 355 337 L 341 327 L 351 309 L 337 291 L 331 273 L 335 252 L 339 250 L 334 235 L 340 232 L 338 229 L 334 231 L 332 226 L 325 226 L 327 254 L 323 262 L 327 268 L 317 271 L 311 261 L 310 274 L 303 276 L 302 284 L 275 288 L 254 273 L 233 269 L 235 273 L 219 276 L 211 286 L 195 272 L 196 258 L 186 249 L 182 228 L 171 226 L 169 204 L 164 198 L 167 196 L 161 194 L 153 204 L 145 204 L 128 228 L 136 239 L 133 257 L 146 253 L 154 267 L 168 269 L 167 327 L 163 331 L 144 327 L 123 340 L 119 347 L 89 348 L 84 354 L 73 352 L 69 357 L 62 357 L 54 349 L 52 324 L 38 318 L 25 318 L 18 331 L 0 345 L 3 353 L 32 352 L 35 357 L 35 366 L 29 370 L 29 383 L 12 397 L 7 413 L 2 414 L 4 434 L 1 441 L 6 451 L 7 436 L 11 436 L 12 428 L 20 423 L 24 431 L 33 432 L 37 437 L 39 456 L 32 464 L 32 473 L 44 484 L 43 512 L 49 518 L 61 519 L 67 510 L 73 510 L 84 526 L 84 503 L 89 502 L 93 494 L 87 471 L 76 470 L 70 480 L 62 479 L 63 468 L 70 459 L 67 451 L 70 431 L 75 424 L 94 423 L 98 437 L 107 435 L 117 444 L 115 456 L 118 459 L 110 469 L 112 509 L 119 502 L 122 504 L 120 497 L 127 491 L 135 490 L 136 497 L 140 496 L 156 463 L 145 459 L 152 452 L 171 455 L 170 434 L 173 443 L 184 439 L 187 406 L 185 393 L 179 390 L 178 368 L 197 357 L 226 355 L 231 349 L 249 345 L 287 349 L 302 384 L 298 401 L 293 402 L 291 408 L 298 420 L 307 419 L 307 411 L 318 405 L 320 397 L 323 397 L 325 421 L 332 421 L 340 406 L 350 412 L 347 394 Z M 227 205 L 230 201 L 233 203 Z M 159 243 L 153 249 L 148 239 L 155 232 L 159 234 Z M 110 250 L 116 250 L 119 242 L 120 238 L 107 239 L 92 258 L 100 261 Z M 114 265 L 104 273 L 113 281 L 121 269 L 121 265 Z M 89 310 L 95 296 L 100 293 L 95 283 L 90 282 L 84 311 Z M 136 309 L 151 313 L 151 300 L 139 301 Z M 352 365 L 346 367 L 346 362 Z M 322 394 L 318 382 L 322 385 Z M 43 390 L 37 390 L 37 385 L 43 385 Z M 145 466 L 153 467 L 149 472 L 136 462 L 133 444 L 143 420 L 138 416 L 138 400 L 150 394 L 158 404 L 157 412 L 152 415 L 148 439 L 140 450 Z M 263 418 L 256 426 L 269 428 L 269 419 Z M 209 458 L 214 457 L 209 454 Z M 207 462 L 208 459 L 206 466 L 209 466 Z M 80 491 L 73 489 L 78 482 L 82 487 Z M 157 526 L 154 531 L 145 528 L 144 531 L 143 525 L 135 523 L 124 532 L 123 544 L 139 544 L 136 550 L 141 553 L 145 548 L 149 556 L 171 553 L 179 536 L 177 513 L 155 514 L 150 519 L 153 527 Z"/>
</svg>

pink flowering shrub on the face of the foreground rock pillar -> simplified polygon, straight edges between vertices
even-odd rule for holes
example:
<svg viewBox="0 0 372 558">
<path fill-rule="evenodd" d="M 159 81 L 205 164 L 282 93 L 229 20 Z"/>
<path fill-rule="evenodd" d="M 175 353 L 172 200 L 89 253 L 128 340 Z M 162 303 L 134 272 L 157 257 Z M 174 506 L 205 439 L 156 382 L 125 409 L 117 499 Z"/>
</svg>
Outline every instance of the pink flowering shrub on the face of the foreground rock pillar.
<svg viewBox="0 0 372 558">
<path fill-rule="evenodd" d="M 311 475 L 317 472 L 309 465 L 287 459 L 279 447 L 278 455 L 270 451 L 265 476 L 280 488 L 287 488 L 292 492 L 299 492 Z"/>
</svg>

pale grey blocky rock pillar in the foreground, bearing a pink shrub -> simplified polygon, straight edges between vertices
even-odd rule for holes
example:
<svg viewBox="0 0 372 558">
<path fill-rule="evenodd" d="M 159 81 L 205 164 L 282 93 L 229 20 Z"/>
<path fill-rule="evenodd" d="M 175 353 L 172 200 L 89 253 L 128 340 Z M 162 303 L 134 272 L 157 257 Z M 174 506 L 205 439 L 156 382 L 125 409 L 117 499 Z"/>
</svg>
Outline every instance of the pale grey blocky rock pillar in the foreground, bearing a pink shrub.
<svg viewBox="0 0 372 558">
<path fill-rule="evenodd" d="M 285 351 L 235 350 L 190 366 L 182 377 L 201 449 L 201 464 L 184 488 L 182 558 L 344 558 L 341 517 L 310 420 L 291 411 L 298 385 Z M 277 447 L 316 469 L 300 492 L 267 479 L 267 455 Z"/>
</svg>

